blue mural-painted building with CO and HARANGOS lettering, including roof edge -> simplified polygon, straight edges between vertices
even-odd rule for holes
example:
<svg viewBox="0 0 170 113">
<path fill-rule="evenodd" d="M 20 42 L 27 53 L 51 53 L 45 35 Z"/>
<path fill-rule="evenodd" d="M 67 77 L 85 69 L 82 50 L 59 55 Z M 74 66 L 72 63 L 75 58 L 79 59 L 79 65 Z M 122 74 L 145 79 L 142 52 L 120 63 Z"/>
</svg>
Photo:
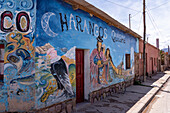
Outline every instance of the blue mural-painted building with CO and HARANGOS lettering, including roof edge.
<svg viewBox="0 0 170 113">
<path fill-rule="evenodd" d="M 141 37 L 84 0 L 1 1 L 0 14 L 0 112 L 70 112 L 133 83 Z"/>
</svg>

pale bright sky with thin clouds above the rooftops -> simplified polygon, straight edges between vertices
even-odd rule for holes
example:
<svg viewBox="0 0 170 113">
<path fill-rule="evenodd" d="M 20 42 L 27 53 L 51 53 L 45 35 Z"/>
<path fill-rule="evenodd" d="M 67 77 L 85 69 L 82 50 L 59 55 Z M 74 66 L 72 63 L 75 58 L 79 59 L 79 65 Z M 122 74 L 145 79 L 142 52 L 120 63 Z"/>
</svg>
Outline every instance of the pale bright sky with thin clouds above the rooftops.
<svg viewBox="0 0 170 113">
<path fill-rule="evenodd" d="M 86 0 L 104 11 L 121 24 L 129 27 L 143 37 L 143 0 Z M 170 0 L 146 1 L 146 41 L 159 48 L 170 46 Z"/>
</svg>

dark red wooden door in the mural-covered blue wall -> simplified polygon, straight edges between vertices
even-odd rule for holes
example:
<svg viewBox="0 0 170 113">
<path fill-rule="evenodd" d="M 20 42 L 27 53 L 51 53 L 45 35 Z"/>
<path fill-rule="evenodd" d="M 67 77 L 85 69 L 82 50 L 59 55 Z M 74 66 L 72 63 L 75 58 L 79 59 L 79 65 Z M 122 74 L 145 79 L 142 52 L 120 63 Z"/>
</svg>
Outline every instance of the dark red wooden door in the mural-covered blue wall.
<svg viewBox="0 0 170 113">
<path fill-rule="evenodd" d="M 76 102 L 84 101 L 84 50 L 76 49 Z"/>
</svg>

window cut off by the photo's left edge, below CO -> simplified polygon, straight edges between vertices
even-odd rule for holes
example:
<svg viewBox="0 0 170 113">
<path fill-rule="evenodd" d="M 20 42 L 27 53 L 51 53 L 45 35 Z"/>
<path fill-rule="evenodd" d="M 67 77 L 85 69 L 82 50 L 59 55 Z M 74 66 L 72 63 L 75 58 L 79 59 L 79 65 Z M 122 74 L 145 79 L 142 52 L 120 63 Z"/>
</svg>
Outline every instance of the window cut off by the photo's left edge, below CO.
<svg viewBox="0 0 170 113">
<path fill-rule="evenodd" d="M 4 78 L 4 53 L 5 48 L 4 44 L 0 44 L 0 82 L 3 82 Z"/>
</svg>

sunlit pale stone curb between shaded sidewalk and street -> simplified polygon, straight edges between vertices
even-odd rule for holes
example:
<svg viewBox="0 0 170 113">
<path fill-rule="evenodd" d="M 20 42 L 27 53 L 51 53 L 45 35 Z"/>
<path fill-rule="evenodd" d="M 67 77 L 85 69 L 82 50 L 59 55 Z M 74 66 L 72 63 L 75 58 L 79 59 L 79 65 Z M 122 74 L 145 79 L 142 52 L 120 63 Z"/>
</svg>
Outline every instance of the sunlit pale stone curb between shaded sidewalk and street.
<svg viewBox="0 0 170 113">
<path fill-rule="evenodd" d="M 163 87 L 163 85 L 170 78 L 170 74 L 166 73 L 163 77 L 154 82 L 151 86 L 153 88 L 142 97 L 134 106 L 132 106 L 127 113 L 142 113 L 142 111 L 146 108 L 146 106 L 152 101 L 154 96 L 159 92 L 159 90 Z"/>
</svg>

